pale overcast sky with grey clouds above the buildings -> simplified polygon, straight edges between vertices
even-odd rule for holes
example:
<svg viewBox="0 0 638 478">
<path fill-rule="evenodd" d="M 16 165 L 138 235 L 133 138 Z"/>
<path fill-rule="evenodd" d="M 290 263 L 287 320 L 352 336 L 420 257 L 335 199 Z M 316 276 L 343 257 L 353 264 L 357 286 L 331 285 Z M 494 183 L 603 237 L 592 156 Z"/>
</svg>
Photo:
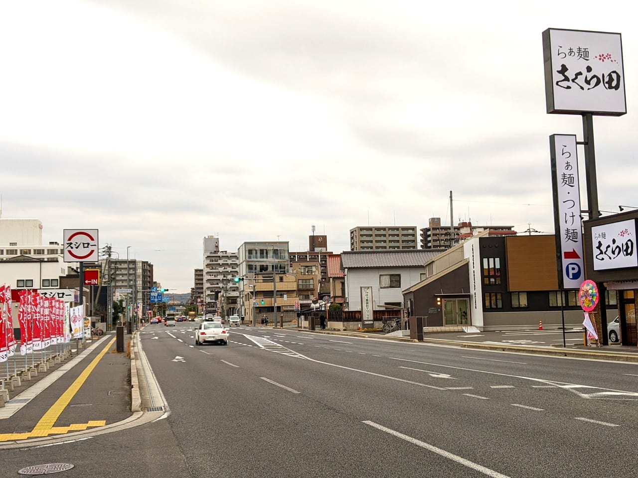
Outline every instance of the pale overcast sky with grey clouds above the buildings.
<svg viewBox="0 0 638 478">
<path fill-rule="evenodd" d="M 221 249 L 311 226 L 553 233 L 542 31 L 623 34 L 627 115 L 596 117 L 600 209 L 638 206 L 638 38 L 625 6 L 372 0 L 4 1 L 2 217 L 100 229 L 188 292 Z M 582 150 L 579 150 L 581 164 Z M 582 166 L 581 166 L 582 168 Z M 584 178 L 582 207 L 586 208 Z M 604 214 L 607 214 L 604 212 Z"/>
</svg>

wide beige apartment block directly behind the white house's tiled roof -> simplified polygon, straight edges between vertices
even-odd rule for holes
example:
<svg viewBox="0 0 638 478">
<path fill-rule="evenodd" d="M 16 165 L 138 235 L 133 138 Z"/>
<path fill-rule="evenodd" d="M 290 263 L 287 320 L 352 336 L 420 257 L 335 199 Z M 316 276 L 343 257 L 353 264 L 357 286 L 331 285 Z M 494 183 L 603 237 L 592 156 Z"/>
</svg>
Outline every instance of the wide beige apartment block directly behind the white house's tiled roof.
<svg viewBox="0 0 638 478">
<path fill-rule="evenodd" d="M 417 249 L 417 226 L 358 226 L 350 229 L 350 250 Z"/>
</svg>

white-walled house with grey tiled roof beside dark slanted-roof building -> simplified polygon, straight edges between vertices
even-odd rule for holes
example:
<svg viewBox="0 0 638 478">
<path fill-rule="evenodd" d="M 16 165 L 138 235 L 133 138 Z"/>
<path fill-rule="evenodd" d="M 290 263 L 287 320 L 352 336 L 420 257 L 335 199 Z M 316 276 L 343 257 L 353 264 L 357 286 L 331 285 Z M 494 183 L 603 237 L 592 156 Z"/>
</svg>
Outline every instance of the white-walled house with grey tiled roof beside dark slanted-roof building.
<svg viewBox="0 0 638 478">
<path fill-rule="evenodd" d="M 372 287 L 373 310 L 404 307 L 403 289 L 425 279 L 424 264 L 442 250 L 344 251 L 346 310 L 361 310 L 361 287 Z"/>
</svg>

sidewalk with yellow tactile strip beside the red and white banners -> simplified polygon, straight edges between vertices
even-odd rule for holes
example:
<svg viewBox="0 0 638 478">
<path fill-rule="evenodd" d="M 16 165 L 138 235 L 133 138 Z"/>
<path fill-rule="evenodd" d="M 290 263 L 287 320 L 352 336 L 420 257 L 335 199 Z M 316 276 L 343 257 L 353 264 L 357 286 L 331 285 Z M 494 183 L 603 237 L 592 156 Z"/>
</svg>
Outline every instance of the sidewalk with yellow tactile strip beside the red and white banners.
<svg viewBox="0 0 638 478">
<path fill-rule="evenodd" d="M 130 338 L 124 336 L 124 352 L 115 350 L 115 333 L 87 340 L 85 349 L 71 344 L 71 352 L 50 361 L 48 370 L 15 382 L 8 402 L 0 407 L 0 444 L 64 435 L 129 417 Z M 21 363 L 24 356 L 17 359 Z"/>
</svg>

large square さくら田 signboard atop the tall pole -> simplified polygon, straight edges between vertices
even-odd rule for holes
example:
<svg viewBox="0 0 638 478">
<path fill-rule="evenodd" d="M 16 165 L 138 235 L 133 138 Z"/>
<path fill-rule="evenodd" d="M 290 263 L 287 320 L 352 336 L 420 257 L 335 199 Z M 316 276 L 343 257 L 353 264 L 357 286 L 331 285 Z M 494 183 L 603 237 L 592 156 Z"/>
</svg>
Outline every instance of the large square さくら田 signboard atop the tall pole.
<svg viewBox="0 0 638 478">
<path fill-rule="evenodd" d="M 627 113 L 619 33 L 543 32 L 547 113 Z"/>
</svg>

